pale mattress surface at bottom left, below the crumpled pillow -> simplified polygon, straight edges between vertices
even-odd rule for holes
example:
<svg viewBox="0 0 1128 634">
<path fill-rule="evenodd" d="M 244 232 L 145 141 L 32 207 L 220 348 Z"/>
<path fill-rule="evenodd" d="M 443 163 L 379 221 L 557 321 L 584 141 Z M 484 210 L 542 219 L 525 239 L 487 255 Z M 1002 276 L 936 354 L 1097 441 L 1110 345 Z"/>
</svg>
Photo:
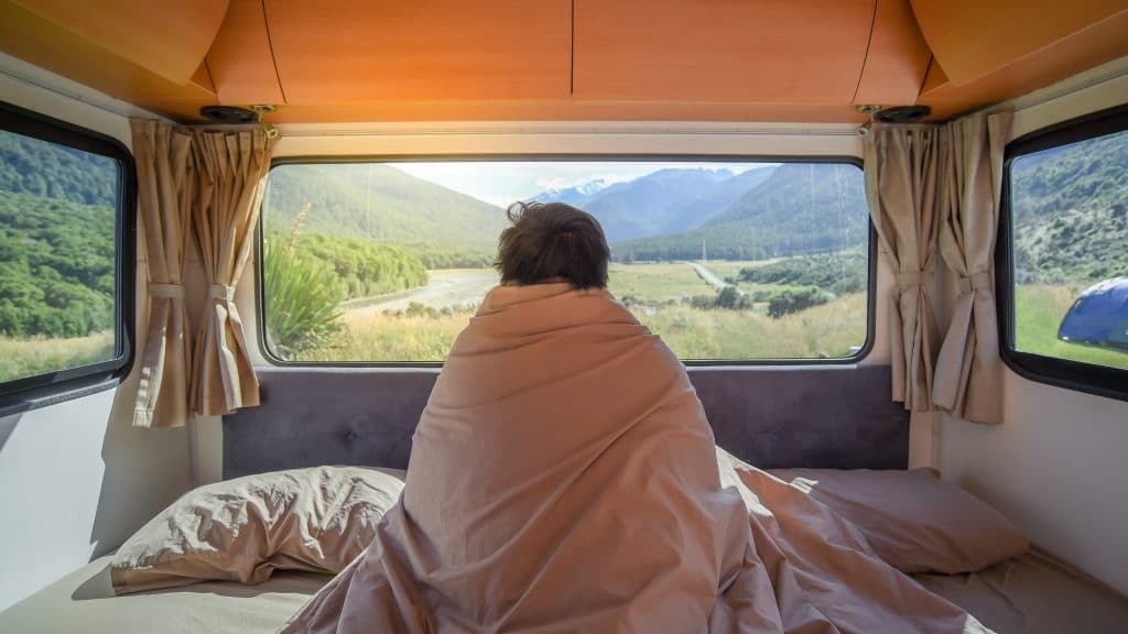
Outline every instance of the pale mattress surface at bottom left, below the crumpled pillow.
<svg viewBox="0 0 1128 634">
<path fill-rule="evenodd" d="M 209 582 L 115 597 L 109 556 L 0 613 L 3 633 L 273 633 L 332 579 L 276 572 L 259 585 Z"/>
</svg>

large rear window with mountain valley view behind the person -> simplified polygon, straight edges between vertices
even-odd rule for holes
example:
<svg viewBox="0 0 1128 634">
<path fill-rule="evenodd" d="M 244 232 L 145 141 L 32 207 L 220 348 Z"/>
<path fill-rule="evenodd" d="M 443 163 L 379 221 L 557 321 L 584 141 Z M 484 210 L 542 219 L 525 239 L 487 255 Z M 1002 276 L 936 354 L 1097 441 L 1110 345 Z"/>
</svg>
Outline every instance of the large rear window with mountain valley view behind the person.
<svg viewBox="0 0 1128 634">
<path fill-rule="evenodd" d="M 616 158 L 281 162 L 263 202 L 263 344 L 289 363 L 441 362 L 499 282 L 515 201 L 601 223 L 610 292 L 689 362 L 849 362 L 870 341 L 862 170 Z"/>
</svg>

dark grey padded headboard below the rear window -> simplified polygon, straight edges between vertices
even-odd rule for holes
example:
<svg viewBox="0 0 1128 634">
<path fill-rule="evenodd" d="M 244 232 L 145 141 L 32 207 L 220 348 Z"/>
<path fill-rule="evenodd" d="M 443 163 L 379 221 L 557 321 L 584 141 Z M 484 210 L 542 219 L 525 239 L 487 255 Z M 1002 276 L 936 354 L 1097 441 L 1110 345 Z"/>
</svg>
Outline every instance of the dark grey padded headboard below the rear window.
<svg viewBox="0 0 1128 634">
<path fill-rule="evenodd" d="M 717 444 L 763 468 L 908 466 L 888 366 L 693 368 Z M 315 465 L 406 468 L 437 369 L 264 368 L 223 417 L 223 477 Z"/>
</svg>

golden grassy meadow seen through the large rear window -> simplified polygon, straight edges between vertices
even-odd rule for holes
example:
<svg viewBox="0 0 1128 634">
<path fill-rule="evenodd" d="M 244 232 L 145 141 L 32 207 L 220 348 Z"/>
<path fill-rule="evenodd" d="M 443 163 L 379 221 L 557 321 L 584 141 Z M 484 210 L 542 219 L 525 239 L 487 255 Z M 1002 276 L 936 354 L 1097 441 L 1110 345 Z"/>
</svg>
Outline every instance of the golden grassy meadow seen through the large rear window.
<svg viewBox="0 0 1128 634">
<path fill-rule="evenodd" d="M 726 264 L 732 272 L 749 265 Z M 767 316 L 766 302 L 740 310 L 690 306 L 691 298 L 715 297 L 716 289 L 686 263 L 613 264 L 609 278 L 609 290 L 682 359 L 841 358 L 865 342 L 864 292 L 773 319 Z M 749 291 L 788 288 L 741 284 L 741 290 L 744 287 Z M 465 306 L 346 310 L 333 336 L 288 358 L 315 362 L 442 361 L 472 316 L 473 310 Z"/>
</svg>

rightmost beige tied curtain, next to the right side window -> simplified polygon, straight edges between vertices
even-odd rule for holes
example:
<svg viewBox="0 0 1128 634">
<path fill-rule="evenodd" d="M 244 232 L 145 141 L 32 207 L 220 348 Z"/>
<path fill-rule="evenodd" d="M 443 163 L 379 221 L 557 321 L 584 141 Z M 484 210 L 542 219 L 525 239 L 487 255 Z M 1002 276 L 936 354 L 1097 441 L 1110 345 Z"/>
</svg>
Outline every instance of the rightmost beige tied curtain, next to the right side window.
<svg viewBox="0 0 1128 634">
<path fill-rule="evenodd" d="M 936 362 L 933 402 L 977 423 L 1003 420 L 994 253 L 1011 114 L 949 124 L 940 248 L 960 294 Z"/>
</svg>

